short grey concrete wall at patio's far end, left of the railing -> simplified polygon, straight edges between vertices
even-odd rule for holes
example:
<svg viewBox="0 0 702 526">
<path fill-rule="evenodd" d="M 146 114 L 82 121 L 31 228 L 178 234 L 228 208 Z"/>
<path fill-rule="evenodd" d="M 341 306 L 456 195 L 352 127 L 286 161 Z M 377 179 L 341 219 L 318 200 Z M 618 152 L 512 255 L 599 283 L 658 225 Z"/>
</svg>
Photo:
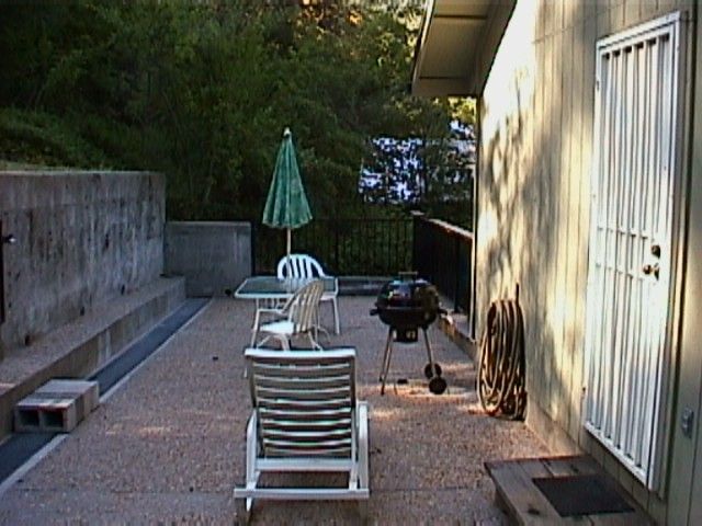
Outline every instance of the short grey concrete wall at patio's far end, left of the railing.
<svg viewBox="0 0 702 526">
<path fill-rule="evenodd" d="M 165 258 L 168 274 L 185 276 L 188 296 L 224 296 L 251 275 L 251 225 L 169 221 Z"/>
</svg>

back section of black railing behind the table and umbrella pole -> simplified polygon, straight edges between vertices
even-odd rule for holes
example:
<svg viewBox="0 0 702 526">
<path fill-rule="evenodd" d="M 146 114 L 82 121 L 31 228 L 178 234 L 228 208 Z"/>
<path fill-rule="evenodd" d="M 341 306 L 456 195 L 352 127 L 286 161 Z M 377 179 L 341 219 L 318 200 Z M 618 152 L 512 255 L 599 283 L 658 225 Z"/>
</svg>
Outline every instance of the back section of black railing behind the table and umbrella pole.
<svg viewBox="0 0 702 526">
<path fill-rule="evenodd" d="M 285 231 L 254 225 L 256 274 L 274 274 Z M 395 276 L 412 268 L 412 219 L 318 219 L 292 231 L 292 252 L 317 259 L 337 276 Z"/>
</svg>

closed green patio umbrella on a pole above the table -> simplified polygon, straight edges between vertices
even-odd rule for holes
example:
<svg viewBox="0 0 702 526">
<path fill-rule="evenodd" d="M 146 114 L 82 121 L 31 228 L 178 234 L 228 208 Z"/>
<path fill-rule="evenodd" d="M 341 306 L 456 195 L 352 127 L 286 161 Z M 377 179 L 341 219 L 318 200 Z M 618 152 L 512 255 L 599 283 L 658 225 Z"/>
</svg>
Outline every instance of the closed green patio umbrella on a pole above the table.
<svg viewBox="0 0 702 526">
<path fill-rule="evenodd" d="M 291 253 L 291 231 L 302 227 L 312 219 L 309 204 L 305 195 L 305 187 L 299 176 L 295 148 L 290 128 L 283 132 L 283 142 L 278 150 L 273 180 L 268 191 L 265 208 L 263 208 L 263 225 L 287 230 L 287 252 Z"/>
</svg>

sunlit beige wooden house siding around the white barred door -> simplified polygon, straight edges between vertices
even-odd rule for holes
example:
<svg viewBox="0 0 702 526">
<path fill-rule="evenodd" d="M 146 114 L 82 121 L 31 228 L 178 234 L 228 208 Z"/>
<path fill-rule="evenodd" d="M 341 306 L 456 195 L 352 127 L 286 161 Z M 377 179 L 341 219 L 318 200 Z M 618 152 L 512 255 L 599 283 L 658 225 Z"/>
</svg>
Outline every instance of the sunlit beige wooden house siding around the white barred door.
<svg viewBox="0 0 702 526">
<path fill-rule="evenodd" d="M 702 441 L 697 438 L 700 424 L 694 439 L 682 439 L 676 431 L 668 466 L 682 471 L 668 477 L 660 494 L 648 492 L 582 427 L 596 42 L 677 10 L 694 19 L 695 9 L 692 0 L 519 1 L 479 103 L 476 334 L 485 329 L 490 301 L 513 298 L 519 284 L 526 338 L 528 423 L 556 451 L 592 454 L 656 521 L 670 524 L 689 522 L 688 512 L 697 518 L 702 513 L 702 468 L 694 466 L 702 462 L 691 461 L 695 447 L 702 460 Z M 699 35 L 699 26 L 691 26 Z M 702 101 L 701 70 L 695 69 L 698 101 Z M 688 105 L 686 114 L 691 115 L 692 107 Z M 699 289 L 702 275 L 701 264 L 691 255 L 698 254 L 699 260 L 702 253 L 699 115 L 694 126 L 690 194 L 694 226 L 683 290 Z M 701 310 L 702 301 L 691 296 L 699 295 L 684 295 L 682 312 Z M 682 375 L 689 378 L 673 382 L 676 389 L 684 390 L 687 403 L 697 408 L 697 422 L 702 350 L 692 342 L 701 338 L 697 319 L 687 318 L 676 352 L 679 364 L 689 363 L 691 368 Z M 679 413 L 673 408 L 676 423 Z"/>
</svg>

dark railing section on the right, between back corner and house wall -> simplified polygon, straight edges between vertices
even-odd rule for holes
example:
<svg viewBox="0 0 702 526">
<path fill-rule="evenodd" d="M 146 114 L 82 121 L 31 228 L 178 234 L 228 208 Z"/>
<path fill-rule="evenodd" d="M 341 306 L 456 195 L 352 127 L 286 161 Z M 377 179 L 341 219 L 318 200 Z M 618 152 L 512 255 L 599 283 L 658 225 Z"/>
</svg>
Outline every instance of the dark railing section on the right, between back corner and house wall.
<svg viewBox="0 0 702 526">
<path fill-rule="evenodd" d="M 419 275 L 472 316 L 473 233 L 420 213 L 414 214 L 412 261 Z"/>
</svg>

